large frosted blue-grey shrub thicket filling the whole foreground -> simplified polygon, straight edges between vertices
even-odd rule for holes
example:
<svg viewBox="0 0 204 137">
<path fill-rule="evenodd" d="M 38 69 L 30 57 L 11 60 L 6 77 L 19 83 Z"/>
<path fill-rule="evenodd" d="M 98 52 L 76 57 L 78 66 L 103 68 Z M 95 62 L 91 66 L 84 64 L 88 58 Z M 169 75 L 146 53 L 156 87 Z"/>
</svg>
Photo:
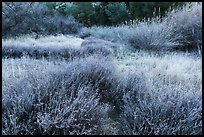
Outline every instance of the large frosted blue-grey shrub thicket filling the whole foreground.
<svg viewBox="0 0 204 137">
<path fill-rule="evenodd" d="M 3 134 L 202 134 L 198 87 L 169 77 L 169 82 L 160 80 L 167 76 L 159 72 L 154 80 L 147 79 L 151 73 L 118 75 L 112 63 L 91 56 L 44 69 L 42 74 L 33 68 L 23 78 L 7 68 L 10 74 L 2 87 Z"/>
</svg>

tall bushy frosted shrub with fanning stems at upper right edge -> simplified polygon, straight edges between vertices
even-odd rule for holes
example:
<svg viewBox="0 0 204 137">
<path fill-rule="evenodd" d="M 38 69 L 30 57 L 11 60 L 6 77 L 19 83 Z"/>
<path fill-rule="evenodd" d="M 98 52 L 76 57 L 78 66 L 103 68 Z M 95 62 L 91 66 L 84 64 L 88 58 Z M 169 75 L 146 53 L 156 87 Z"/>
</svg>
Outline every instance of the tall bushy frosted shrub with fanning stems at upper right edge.
<svg viewBox="0 0 204 137">
<path fill-rule="evenodd" d="M 170 11 L 166 17 L 144 21 L 135 26 L 129 42 L 147 50 L 196 50 L 202 45 L 202 5 L 188 3 Z"/>
</svg>

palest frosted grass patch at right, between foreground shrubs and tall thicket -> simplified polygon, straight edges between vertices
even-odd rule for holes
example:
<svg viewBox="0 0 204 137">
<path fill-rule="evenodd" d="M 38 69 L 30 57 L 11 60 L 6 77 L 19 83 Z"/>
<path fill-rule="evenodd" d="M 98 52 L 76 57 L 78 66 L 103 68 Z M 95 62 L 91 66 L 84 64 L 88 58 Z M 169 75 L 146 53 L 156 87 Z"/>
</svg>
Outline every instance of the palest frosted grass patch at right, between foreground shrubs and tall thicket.
<svg viewBox="0 0 204 137">
<path fill-rule="evenodd" d="M 169 79 L 169 82 L 180 81 L 186 85 L 194 81 L 201 82 L 202 60 L 190 53 L 172 52 L 158 56 L 140 51 L 118 57 L 114 61 L 122 72 L 137 70 L 144 73 L 148 79 L 155 78 L 161 73 L 164 79 Z M 159 80 L 166 81 L 164 79 Z"/>
</svg>

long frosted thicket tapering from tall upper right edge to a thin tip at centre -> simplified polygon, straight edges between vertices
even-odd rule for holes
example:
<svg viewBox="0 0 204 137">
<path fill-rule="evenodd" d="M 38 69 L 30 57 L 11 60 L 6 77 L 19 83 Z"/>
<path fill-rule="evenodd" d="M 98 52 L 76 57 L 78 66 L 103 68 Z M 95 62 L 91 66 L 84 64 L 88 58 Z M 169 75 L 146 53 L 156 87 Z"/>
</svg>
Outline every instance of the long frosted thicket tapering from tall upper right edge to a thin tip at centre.
<svg viewBox="0 0 204 137">
<path fill-rule="evenodd" d="M 81 37 L 92 36 L 131 45 L 136 49 L 202 51 L 202 5 L 186 3 L 163 18 L 135 21 L 117 27 L 84 28 Z"/>
</svg>

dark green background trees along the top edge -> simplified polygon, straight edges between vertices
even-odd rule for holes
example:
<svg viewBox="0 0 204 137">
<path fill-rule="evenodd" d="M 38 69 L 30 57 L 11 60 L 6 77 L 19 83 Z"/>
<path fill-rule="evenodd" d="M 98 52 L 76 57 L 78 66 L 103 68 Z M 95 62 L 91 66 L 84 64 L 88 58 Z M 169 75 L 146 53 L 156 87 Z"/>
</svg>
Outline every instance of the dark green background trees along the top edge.
<svg viewBox="0 0 204 137">
<path fill-rule="evenodd" d="M 117 25 L 132 20 L 142 20 L 165 15 L 169 8 L 182 6 L 184 2 L 53 2 L 51 9 L 74 18 L 86 25 Z"/>
</svg>

